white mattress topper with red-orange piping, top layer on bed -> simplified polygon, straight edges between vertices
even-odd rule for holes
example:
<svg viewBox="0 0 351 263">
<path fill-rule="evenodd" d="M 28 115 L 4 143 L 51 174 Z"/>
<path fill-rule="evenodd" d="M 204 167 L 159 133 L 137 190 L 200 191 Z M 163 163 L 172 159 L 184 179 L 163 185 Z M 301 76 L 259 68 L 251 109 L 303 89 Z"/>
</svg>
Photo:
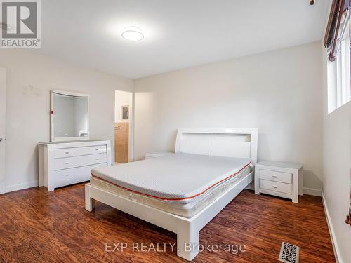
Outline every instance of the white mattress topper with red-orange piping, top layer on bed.
<svg viewBox="0 0 351 263">
<path fill-rule="evenodd" d="M 138 194 L 188 203 L 250 163 L 243 158 L 178 153 L 96 168 L 91 174 Z"/>
</svg>

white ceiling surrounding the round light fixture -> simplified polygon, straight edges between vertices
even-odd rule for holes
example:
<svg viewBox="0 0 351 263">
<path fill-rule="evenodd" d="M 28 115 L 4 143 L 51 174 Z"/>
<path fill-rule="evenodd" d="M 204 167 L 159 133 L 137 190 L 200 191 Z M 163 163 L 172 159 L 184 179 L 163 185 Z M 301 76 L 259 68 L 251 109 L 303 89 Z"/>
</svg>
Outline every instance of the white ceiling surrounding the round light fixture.
<svg viewBox="0 0 351 263">
<path fill-rule="evenodd" d="M 329 0 L 42 0 L 39 53 L 128 78 L 322 39 Z M 145 39 L 121 38 L 137 26 Z"/>
</svg>

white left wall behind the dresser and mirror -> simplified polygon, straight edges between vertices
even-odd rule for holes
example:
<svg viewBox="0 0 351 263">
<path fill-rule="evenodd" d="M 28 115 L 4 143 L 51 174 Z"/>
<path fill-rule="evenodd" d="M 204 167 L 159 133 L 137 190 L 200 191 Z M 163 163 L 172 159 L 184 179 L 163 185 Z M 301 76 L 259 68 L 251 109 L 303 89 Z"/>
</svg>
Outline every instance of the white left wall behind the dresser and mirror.
<svg viewBox="0 0 351 263">
<path fill-rule="evenodd" d="M 114 90 L 132 91 L 132 80 L 25 50 L 0 50 L 0 67 L 8 74 L 6 191 L 37 185 L 37 143 L 50 140 L 50 90 L 89 93 L 91 139 L 114 145 Z"/>
</svg>

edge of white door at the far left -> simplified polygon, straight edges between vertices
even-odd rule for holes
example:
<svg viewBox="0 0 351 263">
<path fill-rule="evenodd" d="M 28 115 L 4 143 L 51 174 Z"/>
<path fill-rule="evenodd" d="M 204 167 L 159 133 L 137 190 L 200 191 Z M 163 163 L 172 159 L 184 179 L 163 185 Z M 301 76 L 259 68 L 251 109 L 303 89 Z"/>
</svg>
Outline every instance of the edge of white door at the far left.
<svg viewBox="0 0 351 263">
<path fill-rule="evenodd" d="M 0 194 L 5 192 L 6 69 L 0 67 Z"/>
</svg>

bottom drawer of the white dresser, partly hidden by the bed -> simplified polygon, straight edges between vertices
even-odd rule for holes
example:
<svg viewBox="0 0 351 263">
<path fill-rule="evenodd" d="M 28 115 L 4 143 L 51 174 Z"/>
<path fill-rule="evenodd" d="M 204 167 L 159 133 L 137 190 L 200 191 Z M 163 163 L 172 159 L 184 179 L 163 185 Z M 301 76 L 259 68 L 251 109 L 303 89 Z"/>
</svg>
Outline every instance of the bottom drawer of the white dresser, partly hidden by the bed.
<svg viewBox="0 0 351 263">
<path fill-rule="evenodd" d="M 91 169 L 102 166 L 107 166 L 107 163 L 98 163 L 93 166 L 82 166 L 77 168 L 55 170 L 51 179 L 53 182 L 64 182 L 69 180 L 72 184 L 76 182 L 88 181 L 90 180 Z"/>
</svg>

